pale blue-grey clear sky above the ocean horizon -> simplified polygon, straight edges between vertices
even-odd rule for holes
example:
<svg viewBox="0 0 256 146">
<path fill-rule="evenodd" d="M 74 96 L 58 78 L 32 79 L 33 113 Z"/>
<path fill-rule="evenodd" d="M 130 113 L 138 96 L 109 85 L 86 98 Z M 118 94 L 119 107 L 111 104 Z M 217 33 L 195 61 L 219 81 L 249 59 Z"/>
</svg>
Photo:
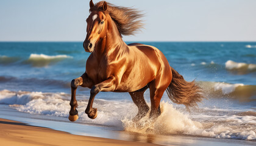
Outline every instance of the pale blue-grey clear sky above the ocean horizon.
<svg viewBox="0 0 256 146">
<path fill-rule="evenodd" d="M 1 0 L 0 41 L 84 41 L 89 2 Z M 124 41 L 256 41 L 255 0 L 107 2 L 144 13 L 144 29 Z"/>
</svg>

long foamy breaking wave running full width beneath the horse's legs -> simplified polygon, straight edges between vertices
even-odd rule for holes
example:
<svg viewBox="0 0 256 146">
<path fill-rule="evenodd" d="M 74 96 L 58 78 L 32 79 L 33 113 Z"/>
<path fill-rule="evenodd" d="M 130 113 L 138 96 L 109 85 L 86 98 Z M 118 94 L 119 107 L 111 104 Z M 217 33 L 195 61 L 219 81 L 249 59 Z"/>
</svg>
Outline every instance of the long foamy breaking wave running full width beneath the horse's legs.
<svg viewBox="0 0 256 146">
<path fill-rule="evenodd" d="M 69 99 L 70 95 L 65 93 L 0 91 L 0 103 L 10 104 L 18 111 L 30 114 L 68 118 Z M 93 120 L 84 113 L 88 96 L 83 96 L 83 99 L 77 102 L 78 121 L 82 123 L 120 127 L 136 133 L 256 140 L 256 117 L 251 114 L 239 114 L 240 111 L 226 109 L 225 115 L 220 116 L 218 110 L 212 110 L 209 116 L 208 109 L 202 108 L 199 112 L 193 111 L 188 114 L 184 113 L 185 108 L 180 109 L 171 103 L 161 102 L 162 114 L 157 120 L 149 120 L 148 113 L 146 117 L 134 123 L 131 119 L 137 114 L 138 109 L 130 101 L 95 99 L 93 105 L 98 108 L 98 117 Z"/>
</svg>

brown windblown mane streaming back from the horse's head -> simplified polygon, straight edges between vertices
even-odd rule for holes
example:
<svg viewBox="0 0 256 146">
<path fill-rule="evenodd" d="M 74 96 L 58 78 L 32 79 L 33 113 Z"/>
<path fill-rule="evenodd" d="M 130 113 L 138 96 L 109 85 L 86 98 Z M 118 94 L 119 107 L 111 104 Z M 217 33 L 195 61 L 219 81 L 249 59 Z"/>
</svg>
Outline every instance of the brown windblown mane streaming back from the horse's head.
<svg viewBox="0 0 256 146">
<path fill-rule="evenodd" d="M 119 7 L 110 3 L 107 3 L 107 10 L 102 9 L 104 1 L 100 1 L 91 7 L 89 10 L 98 10 L 103 13 L 107 13 L 116 23 L 119 33 L 121 35 L 134 35 L 138 30 L 143 28 L 140 18 L 143 16 L 137 9 L 130 7 Z"/>
</svg>

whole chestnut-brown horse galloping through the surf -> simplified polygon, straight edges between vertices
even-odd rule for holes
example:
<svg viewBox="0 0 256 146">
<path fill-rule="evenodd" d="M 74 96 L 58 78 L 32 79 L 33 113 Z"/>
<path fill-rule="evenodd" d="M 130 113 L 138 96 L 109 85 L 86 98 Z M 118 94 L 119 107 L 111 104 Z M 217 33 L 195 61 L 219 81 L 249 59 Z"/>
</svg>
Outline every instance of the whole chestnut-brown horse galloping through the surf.
<svg viewBox="0 0 256 146">
<path fill-rule="evenodd" d="M 87 18 L 84 49 L 91 52 L 85 73 L 71 82 L 71 110 L 69 120 L 78 119 L 77 86 L 90 88 L 90 99 L 85 110 L 88 117 L 97 117 L 93 100 L 100 91 L 129 92 L 138 114 L 134 121 L 146 116 L 149 106 L 143 94 L 150 89 L 150 118 L 161 114 L 160 100 L 167 91 L 174 103 L 195 106 L 202 100 L 201 88 L 186 82 L 182 75 L 169 66 L 165 55 L 156 47 L 133 43 L 127 45 L 121 35 L 132 35 L 142 27 L 140 13 L 135 9 L 116 7 L 107 2 L 93 4 Z"/>
</svg>

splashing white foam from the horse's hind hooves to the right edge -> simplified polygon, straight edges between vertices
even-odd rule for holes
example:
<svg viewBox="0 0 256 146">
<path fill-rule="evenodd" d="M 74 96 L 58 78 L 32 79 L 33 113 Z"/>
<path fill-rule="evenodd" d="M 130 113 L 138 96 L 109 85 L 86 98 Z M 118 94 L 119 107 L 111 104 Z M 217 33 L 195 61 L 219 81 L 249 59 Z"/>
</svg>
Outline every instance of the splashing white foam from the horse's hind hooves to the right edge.
<svg viewBox="0 0 256 146">
<path fill-rule="evenodd" d="M 255 140 L 254 116 L 212 116 L 208 119 L 207 113 L 201 113 L 200 119 L 191 119 L 189 114 L 180 112 L 169 103 L 161 103 L 162 114 L 157 120 L 148 120 L 148 115 L 138 123 L 130 119 L 123 119 L 126 131 L 151 133 L 151 134 L 174 134 L 189 136 L 206 136 L 229 139 Z M 196 121 L 198 120 L 198 121 Z M 199 122 L 200 121 L 200 122 Z M 240 124 L 247 123 L 241 127 Z"/>
</svg>

